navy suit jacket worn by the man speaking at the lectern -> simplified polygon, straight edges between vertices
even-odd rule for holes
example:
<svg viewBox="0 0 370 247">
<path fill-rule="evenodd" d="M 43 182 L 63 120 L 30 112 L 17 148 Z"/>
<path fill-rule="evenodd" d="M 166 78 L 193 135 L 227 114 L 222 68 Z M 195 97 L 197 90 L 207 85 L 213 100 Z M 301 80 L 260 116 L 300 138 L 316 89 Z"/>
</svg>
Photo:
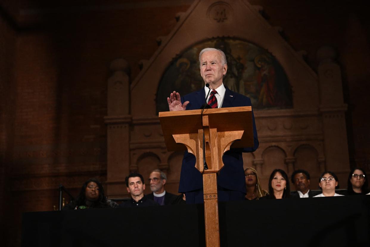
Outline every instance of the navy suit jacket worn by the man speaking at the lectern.
<svg viewBox="0 0 370 247">
<path fill-rule="evenodd" d="M 222 102 L 222 108 L 225 107 L 238 107 L 238 106 L 251 106 L 250 99 L 242 94 L 235 93 L 229 90 L 227 87 L 225 96 Z M 186 106 L 186 110 L 200 109 L 205 103 L 205 90 L 204 87 L 193 93 L 187 94 L 181 97 L 181 102 L 189 101 L 190 103 Z M 243 157 L 242 152 L 253 152 L 258 148 L 258 137 L 255 119 L 252 111 L 253 121 L 253 147 L 249 148 L 231 148 L 225 152 L 222 157 L 223 164 L 225 166 L 219 172 L 217 178 L 218 188 L 235 190 L 245 193 L 245 175 L 243 170 Z M 185 151 L 184 158 L 182 160 L 179 193 L 185 193 L 193 190 L 199 190 L 203 188 L 203 177 L 202 174 L 195 168 L 195 156 L 188 151 Z"/>
</svg>

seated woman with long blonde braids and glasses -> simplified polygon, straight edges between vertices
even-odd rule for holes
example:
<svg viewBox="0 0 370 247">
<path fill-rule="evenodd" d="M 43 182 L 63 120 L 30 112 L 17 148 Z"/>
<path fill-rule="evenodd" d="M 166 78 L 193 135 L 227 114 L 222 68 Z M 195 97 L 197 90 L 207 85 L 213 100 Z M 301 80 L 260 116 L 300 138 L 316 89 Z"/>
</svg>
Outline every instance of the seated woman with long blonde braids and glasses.
<svg viewBox="0 0 370 247">
<path fill-rule="evenodd" d="M 255 168 L 247 167 L 244 170 L 245 174 L 245 185 L 247 194 L 245 195 L 246 200 L 258 200 L 260 197 L 266 196 L 269 193 L 261 188 L 259 183 L 257 171 Z"/>
</svg>

